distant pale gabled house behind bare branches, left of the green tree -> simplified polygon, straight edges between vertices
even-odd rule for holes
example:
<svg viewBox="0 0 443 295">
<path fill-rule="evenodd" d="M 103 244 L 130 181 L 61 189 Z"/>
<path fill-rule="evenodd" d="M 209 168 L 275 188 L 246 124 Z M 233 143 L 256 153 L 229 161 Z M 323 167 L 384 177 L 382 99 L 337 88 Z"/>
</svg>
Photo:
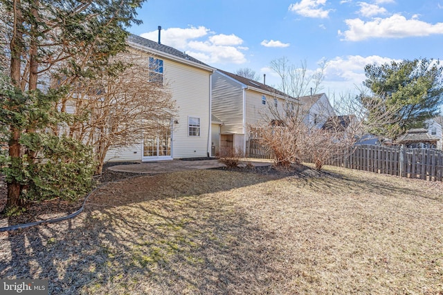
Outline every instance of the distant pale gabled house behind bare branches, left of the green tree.
<svg viewBox="0 0 443 295">
<path fill-rule="evenodd" d="M 302 103 L 300 111 L 305 116 L 303 121 L 307 126 L 321 128 L 329 117 L 336 116 L 334 108 L 325 93 L 302 96 L 298 99 Z"/>
</svg>

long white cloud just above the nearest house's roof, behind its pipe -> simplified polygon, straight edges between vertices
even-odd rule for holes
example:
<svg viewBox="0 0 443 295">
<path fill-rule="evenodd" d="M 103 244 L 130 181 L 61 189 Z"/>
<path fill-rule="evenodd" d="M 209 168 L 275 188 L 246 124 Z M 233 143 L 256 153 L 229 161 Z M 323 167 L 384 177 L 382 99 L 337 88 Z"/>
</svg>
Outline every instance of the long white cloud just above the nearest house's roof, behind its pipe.
<svg viewBox="0 0 443 295">
<path fill-rule="evenodd" d="M 159 31 L 146 32 L 141 37 L 157 41 Z M 207 64 L 243 64 L 248 50 L 243 40 L 234 34 L 216 35 L 204 26 L 198 28 L 168 28 L 161 31 L 161 44 L 174 47 Z"/>
</svg>

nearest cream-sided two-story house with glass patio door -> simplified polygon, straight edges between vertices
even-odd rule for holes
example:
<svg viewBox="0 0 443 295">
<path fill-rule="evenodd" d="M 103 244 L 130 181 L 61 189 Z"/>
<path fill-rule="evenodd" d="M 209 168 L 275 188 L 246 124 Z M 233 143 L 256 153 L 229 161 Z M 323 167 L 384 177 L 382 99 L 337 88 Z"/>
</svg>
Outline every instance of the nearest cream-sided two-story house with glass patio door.
<svg viewBox="0 0 443 295">
<path fill-rule="evenodd" d="M 214 68 L 170 46 L 130 35 L 130 50 L 145 56 L 156 66 L 153 77 L 168 82 L 177 113 L 157 122 L 155 136 L 124 149 L 111 150 L 106 160 L 151 161 L 177 158 L 201 158 L 211 153 L 210 79 Z M 149 69 L 147 69 L 149 70 Z"/>
</svg>

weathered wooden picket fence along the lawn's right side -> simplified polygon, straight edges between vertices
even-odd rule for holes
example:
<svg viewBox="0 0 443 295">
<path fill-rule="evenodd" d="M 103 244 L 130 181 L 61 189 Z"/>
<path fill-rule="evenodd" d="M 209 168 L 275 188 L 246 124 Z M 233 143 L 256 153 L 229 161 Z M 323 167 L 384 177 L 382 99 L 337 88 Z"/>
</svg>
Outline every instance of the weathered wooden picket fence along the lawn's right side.
<svg viewBox="0 0 443 295">
<path fill-rule="evenodd" d="M 442 181 L 443 151 L 397 146 L 354 146 L 325 164 L 406 178 Z"/>
</svg>

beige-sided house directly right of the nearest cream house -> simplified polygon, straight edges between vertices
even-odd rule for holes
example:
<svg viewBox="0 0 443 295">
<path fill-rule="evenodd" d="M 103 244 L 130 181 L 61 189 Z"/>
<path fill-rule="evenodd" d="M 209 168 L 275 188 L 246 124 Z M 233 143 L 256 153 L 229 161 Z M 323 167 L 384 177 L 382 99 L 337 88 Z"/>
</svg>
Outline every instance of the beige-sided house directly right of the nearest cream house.
<svg viewBox="0 0 443 295">
<path fill-rule="evenodd" d="M 216 70 L 212 78 L 212 114 L 220 125 L 219 139 L 213 133 L 213 144 L 220 148 L 246 150 L 248 125 L 265 122 L 269 108 L 278 111 L 294 110 L 298 101 L 260 82 Z"/>
</svg>

